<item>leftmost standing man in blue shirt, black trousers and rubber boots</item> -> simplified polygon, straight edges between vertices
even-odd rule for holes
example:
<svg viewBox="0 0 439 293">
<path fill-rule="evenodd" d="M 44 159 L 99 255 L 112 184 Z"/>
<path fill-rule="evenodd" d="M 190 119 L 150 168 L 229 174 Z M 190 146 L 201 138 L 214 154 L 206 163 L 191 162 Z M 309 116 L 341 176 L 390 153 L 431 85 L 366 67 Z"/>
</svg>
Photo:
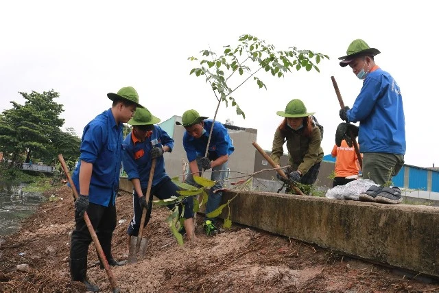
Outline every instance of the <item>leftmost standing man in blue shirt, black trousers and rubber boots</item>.
<svg viewBox="0 0 439 293">
<path fill-rule="evenodd" d="M 110 266 L 121 266 L 111 254 L 112 233 L 116 228 L 116 196 L 119 191 L 123 123 L 134 116 L 139 95 L 131 86 L 108 93 L 112 107 L 90 121 L 84 128 L 79 163 L 72 180 L 80 194 L 75 202 L 75 230 L 71 235 L 70 272 L 73 281 L 81 281 L 86 289 L 99 292 L 88 282 L 87 255 L 91 235 L 84 221 L 88 214 L 99 243 Z"/>
</svg>

